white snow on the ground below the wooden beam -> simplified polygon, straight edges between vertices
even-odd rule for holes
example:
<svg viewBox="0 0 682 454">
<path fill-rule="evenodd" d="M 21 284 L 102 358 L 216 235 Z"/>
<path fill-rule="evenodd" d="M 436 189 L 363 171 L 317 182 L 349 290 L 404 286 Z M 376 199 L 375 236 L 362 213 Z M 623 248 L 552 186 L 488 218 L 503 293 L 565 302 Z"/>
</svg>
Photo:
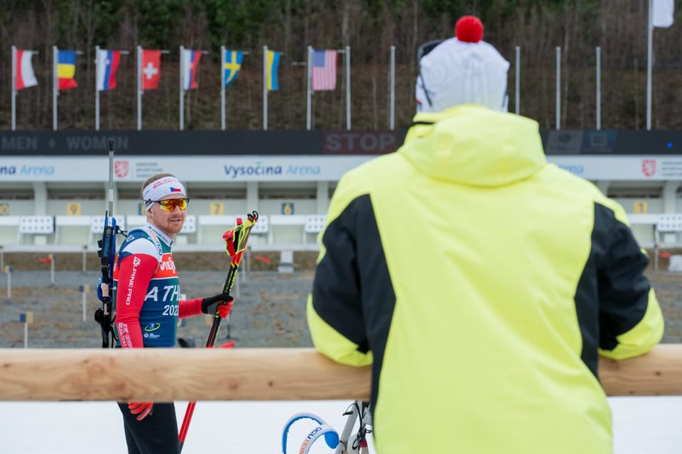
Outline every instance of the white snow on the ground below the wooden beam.
<svg viewBox="0 0 682 454">
<path fill-rule="evenodd" d="M 672 454 L 682 446 L 682 397 L 612 397 L 616 454 Z M 198 402 L 183 454 L 281 453 L 283 424 L 301 411 L 341 433 L 351 402 Z M 177 402 L 180 422 L 186 402 Z M 298 453 L 314 423 L 297 421 L 287 454 Z M 121 454 L 121 414 L 113 402 L 0 402 L 0 453 Z M 318 440 L 310 454 L 332 453 Z M 370 453 L 375 453 L 370 440 Z"/>
</svg>

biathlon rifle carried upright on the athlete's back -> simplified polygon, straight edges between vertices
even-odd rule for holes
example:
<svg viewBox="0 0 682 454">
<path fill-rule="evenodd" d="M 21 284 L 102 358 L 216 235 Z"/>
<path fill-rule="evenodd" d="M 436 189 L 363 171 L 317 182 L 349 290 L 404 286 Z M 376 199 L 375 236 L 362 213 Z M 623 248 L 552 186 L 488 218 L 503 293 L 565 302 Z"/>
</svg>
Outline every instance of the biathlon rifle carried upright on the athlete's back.
<svg viewBox="0 0 682 454">
<path fill-rule="evenodd" d="M 94 312 L 94 321 L 99 323 L 102 333 L 102 348 L 114 348 L 114 300 L 112 290 L 114 288 L 114 257 L 116 255 L 116 234 L 124 233 L 116 225 L 114 218 L 114 140 L 109 139 L 109 209 L 104 211 L 104 230 L 102 239 L 97 240 L 97 257 L 102 270 L 101 282 L 97 297 L 102 301 Z"/>
</svg>

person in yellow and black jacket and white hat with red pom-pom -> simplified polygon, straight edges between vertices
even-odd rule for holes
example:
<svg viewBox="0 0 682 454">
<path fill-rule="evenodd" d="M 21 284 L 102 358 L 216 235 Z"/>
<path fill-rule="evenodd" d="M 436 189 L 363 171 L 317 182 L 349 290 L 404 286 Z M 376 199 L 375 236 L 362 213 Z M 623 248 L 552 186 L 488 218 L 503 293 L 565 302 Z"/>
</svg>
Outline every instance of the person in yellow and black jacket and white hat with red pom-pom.
<svg viewBox="0 0 682 454">
<path fill-rule="evenodd" d="M 479 24 L 421 60 L 404 145 L 339 182 L 313 343 L 372 365 L 380 454 L 612 453 L 597 362 L 661 340 L 648 258 L 622 206 L 503 112 L 509 63 Z"/>
</svg>

